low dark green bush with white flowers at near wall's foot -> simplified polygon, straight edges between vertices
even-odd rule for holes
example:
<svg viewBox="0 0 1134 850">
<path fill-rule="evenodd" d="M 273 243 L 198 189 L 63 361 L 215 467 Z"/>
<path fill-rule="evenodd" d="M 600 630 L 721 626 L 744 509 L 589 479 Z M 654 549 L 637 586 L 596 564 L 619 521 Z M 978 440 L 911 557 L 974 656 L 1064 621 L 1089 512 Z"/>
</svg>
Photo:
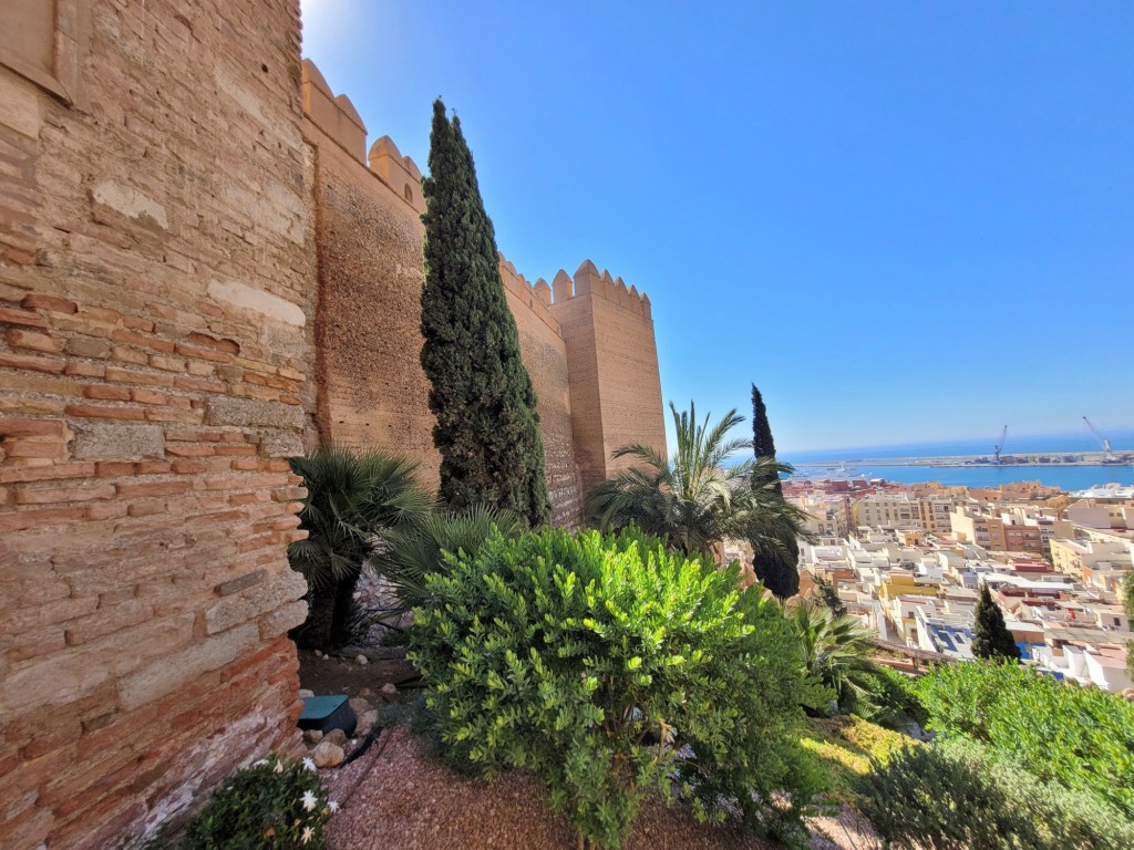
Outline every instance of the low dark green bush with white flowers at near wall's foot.
<svg viewBox="0 0 1134 850">
<path fill-rule="evenodd" d="M 236 771 L 193 818 L 177 850 L 321 850 L 335 805 L 307 759 L 277 754 Z"/>
</svg>

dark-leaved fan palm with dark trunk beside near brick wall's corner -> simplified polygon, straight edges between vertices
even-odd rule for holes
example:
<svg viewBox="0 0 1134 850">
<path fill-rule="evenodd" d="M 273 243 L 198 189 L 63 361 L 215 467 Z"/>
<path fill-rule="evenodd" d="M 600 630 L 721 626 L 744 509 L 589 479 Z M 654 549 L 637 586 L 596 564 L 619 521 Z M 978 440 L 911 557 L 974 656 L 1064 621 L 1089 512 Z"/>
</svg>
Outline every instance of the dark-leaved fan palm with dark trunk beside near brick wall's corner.
<svg viewBox="0 0 1134 850">
<path fill-rule="evenodd" d="M 434 500 L 414 481 L 415 462 L 383 450 L 329 443 L 290 464 L 307 487 L 299 511 L 307 538 L 288 546 L 291 568 L 307 579 L 310 604 L 294 637 L 311 648 L 341 646 L 350 638 L 355 586 L 366 560 L 383 535 L 420 520 Z"/>
</svg>

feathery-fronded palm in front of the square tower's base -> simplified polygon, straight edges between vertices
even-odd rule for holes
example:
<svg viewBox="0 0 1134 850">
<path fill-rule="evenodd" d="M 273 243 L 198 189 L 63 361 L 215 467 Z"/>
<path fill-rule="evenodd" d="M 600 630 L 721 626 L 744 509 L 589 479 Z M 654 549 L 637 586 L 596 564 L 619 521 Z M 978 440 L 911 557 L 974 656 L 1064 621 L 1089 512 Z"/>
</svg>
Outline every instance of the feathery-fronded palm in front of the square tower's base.
<svg viewBox="0 0 1134 850">
<path fill-rule="evenodd" d="M 713 425 L 709 416 L 697 422 L 696 408 L 669 409 L 677 449 L 667 459 L 650 445 L 634 443 L 616 449 L 612 458 L 637 464 L 615 478 L 592 487 L 585 508 L 604 532 L 636 525 L 688 555 L 711 556 L 726 537 L 748 541 L 758 552 L 778 552 L 785 539 L 806 536 L 803 512 L 784 501 L 772 486 L 750 486 L 750 478 L 769 479 L 790 467 L 773 459 L 747 460 L 734 467 L 725 461 L 751 448 L 746 440 L 730 440 L 728 432 L 744 422 L 729 410 Z"/>
</svg>

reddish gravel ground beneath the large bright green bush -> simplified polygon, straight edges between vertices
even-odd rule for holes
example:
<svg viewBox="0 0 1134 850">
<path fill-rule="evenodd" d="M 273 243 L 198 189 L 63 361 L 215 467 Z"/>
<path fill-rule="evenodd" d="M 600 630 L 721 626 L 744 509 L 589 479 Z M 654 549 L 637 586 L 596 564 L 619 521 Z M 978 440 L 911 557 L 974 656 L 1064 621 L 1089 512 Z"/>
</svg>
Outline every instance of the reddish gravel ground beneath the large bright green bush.
<svg viewBox="0 0 1134 850">
<path fill-rule="evenodd" d="M 322 776 L 331 799 L 342 809 L 331 818 L 331 850 L 562 850 L 575 847 L 565 818 L 545 806 L 541 784 L 518 771 L 491 782 L 462 780 L 423 757 L 405 728 L 382 733 L 373 751 Z M 833 818 L 816 826 L 839 838 Z M 816 836 L 812 845 L 863 850 L 857 840 L 830 843 Z M 848 836 L 849 839 L 849 836 Z M 627 850 L 772 850 L 728 826 L 704 826 L 680 806 L 646 805 Z"/>
</svg>

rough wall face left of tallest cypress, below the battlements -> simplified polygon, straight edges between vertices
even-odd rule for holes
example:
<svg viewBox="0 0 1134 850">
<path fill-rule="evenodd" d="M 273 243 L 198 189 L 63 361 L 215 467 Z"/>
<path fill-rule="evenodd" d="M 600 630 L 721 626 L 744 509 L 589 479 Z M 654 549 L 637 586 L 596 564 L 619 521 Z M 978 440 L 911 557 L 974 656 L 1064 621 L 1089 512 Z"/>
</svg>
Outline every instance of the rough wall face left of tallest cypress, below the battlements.
<svg viewBox="0 0 1134 850">
<path fill-rule="evenodd" d="M 420 359 L 420 213 L 316 126 L 306 131 L 318 144 L 320 431 L 407 454 L 435 488 L 441 459 Z"/>
</svg>

